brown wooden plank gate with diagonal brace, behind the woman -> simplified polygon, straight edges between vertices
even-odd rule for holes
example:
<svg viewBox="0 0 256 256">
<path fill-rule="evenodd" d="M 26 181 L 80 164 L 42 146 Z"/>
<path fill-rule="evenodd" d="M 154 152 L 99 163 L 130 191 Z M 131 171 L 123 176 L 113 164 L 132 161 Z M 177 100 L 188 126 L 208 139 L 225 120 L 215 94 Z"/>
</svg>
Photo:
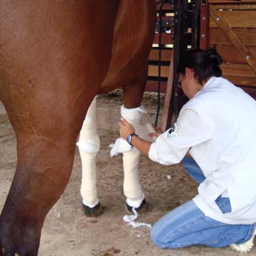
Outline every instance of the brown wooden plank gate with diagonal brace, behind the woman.
<svg viewBox="0 0 256 256">
<path fill-rule="evenodd" d="M 209 0 L 208 45 L 225 63 L 223 77 L 256 97 L 256 1 Z"/>
</svg>

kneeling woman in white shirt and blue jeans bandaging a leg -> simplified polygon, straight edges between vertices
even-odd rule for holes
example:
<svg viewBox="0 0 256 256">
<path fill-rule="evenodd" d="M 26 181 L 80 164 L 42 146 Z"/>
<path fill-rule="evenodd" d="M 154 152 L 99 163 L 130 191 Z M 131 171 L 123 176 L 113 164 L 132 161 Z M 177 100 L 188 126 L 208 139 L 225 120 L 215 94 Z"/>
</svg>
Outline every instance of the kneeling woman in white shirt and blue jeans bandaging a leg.
<svg viewBox="0 0 256 256">
<path fill-rule="evenodd" d="M 133 136 L 126 121 L 120 136 L 153 161 L 183 163 L 198 183 L 193 200 L 158 220 L 151 238 L 161 248 L 191 245 L 251 249 L 256 223 L 256 102 L 221 77 L 213 49 L 191 52 L 178 67 L 188 102 L 176 124 L 156 142 Z"/>
</svg>

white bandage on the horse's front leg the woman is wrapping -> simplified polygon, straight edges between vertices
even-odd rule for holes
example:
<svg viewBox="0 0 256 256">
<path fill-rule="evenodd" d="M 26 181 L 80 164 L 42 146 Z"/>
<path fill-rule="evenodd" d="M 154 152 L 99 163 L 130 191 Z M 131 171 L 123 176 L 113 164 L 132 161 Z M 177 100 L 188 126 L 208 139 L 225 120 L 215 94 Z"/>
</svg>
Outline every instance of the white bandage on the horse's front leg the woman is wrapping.
<svg viewBox="0 0 256 256">
<path fill-rule="evenodd" d="M 150 142 L 152 139 L 148 136 L 149 130 L 146 126 L 145 114 L 146 111 L 142 106 L 133 109 L 126 109 L 124 106 L 121 107 L 122 117 L 133 125 L 139 137 Z M 150 126 L 150 124 L 147 125 Z M 139 183 L 140 151 L 134 148 L 131 149 L 130 146 L 128 149 L 128 151 L 123 151 L 124 195 L 127 197 L 128 205 L 137 208 L 145 198 L 142 186 Z"/>
</svg>

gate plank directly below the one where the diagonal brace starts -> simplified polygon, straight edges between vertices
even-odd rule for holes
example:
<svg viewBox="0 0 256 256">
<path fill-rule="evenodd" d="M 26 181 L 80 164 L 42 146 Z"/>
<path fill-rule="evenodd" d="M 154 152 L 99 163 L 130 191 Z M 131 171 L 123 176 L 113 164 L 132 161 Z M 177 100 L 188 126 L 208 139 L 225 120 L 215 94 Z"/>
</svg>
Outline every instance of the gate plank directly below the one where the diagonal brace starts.
<svg viewBox="0 0 256 256">
<path fill-rule="evenodd" d="M 255 28 L 233 28 L 233 31 L 244 46 L 256 46 Z M 232 45 L 220 28 L 210 28 L 209 44 Z"/>
</svg>

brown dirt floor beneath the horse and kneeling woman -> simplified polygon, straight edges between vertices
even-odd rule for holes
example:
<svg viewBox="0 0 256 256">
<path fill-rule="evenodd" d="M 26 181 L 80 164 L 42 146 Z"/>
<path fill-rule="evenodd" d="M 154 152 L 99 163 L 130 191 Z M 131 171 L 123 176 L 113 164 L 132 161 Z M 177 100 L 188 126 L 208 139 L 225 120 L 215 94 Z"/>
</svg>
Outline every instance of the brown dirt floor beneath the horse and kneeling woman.
<svg viewBox="0 0 256 256">
<path fill-rule="evenodd" d="M 154 124 L 156 95 L 145 94 L 144 105 Z M 117 122 L 122 97 L 119 93 L 100 96 L 97 100 L 101 149 L 97 156 L 97 188 L 100 202 L 107 209 L 98 218 L 86 218 L 81 210 L 81 163 L 75 153 L 73 173 L 65 193 L 50 210 L 43 226 L 40 256 L 213 256 L 239 255 L 230 247 L 203 246 L 178 250 L 160 250 L 149 235 L 149 228 L 132 228 L 122 220 L 127 215 L 122 191 L 122 156 L 110 158 L 109 145 L 118 136 Z M 0 209 L 4 206 L 16 166 L 16 138 L 6 114 L 0 114 Z M 140 176 L 146 200 L 153 209 L 139 216 L 138 221 L 153 224 L 169 210 L 196 195 L 196 183 L 181 165 L 161 166 L 145 156 L 140 164 Z M 171 177 L 171 178 L 170 178 Z M 247 255 L 256 255 L 256 248 Z"/>
</svg>

